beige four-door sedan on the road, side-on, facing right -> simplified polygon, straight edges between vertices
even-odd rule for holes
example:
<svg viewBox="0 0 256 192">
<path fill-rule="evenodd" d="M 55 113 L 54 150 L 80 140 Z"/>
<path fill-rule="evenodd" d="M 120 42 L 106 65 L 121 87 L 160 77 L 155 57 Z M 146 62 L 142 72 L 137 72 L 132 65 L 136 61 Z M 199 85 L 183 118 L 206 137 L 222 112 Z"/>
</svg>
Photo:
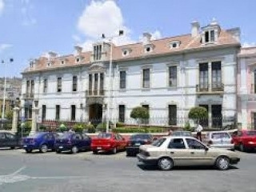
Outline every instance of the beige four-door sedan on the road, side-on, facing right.
<svg viewBox="0 0 256 192">
<path fill-rule="evenodd" d="M 158 165 L 161 170 L 171 170 L 174 166 L 216 166 L 227 170 L 230 164 L 240 161 L 234 151 L 210 148 L 191 137 L 159 138 L 151 145 L 140 146 L 139 150 L 140 162 Z"/>
</svg>

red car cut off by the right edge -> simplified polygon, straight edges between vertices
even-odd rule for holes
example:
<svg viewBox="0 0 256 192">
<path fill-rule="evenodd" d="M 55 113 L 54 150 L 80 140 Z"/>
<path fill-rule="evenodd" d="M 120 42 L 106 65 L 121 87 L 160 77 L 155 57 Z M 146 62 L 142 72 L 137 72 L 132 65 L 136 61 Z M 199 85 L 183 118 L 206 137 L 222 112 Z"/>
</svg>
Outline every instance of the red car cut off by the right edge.
<svg viewBox="0 0 256 192">
<path fill-rule="evenodd" d="M 238 130 L 233 134 L 234 148 L 256 150 L 256 130 Z"/>
</svg>

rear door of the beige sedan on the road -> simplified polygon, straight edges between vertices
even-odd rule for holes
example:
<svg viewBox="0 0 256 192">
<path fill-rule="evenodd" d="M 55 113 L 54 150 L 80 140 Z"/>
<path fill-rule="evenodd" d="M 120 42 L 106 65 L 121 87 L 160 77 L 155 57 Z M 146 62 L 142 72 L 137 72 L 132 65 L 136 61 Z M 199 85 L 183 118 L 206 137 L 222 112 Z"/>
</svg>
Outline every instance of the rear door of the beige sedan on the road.
<svg viewBox="0 0 256 192">
<path fill-rule="evenodd" d="M 189 157 L 183 138 L 172 138 L 166 149 L 166 154 L 174 160 L 175 166 L 185 166 Z"/>
</svg>

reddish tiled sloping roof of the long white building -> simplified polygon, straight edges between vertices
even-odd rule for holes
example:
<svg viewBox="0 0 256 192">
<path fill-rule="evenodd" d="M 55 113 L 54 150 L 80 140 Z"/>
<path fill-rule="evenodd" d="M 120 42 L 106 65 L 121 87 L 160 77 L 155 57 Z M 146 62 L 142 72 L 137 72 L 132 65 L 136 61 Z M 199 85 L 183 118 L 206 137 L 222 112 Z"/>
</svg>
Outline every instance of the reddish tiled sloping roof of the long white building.
<svg viewBox="0 0 256 192">
<path fill-rule="evenodd" d="M 195 50 L 203 50 L 204 48 L 214 48 L 220 46 L 240 46 L 240 42 L 234 37 L 233 34 L 229 32 L 230 30 L 221 30 L 218 41 L 214 44 L 203 45 L 201 43 L 201 34 L 198 34 L 195 37 L 192 37 L 191 34 L 183 34 L 180 36 L 170 37 L 170 38 L 161 38 L 157 40 L 151 40 L 150 45 L 154 46 L 154 50 L 149 53 L 145 53 L 144 48 L 145 45 L 142 42 L 127 44 L 124 46 L 114 46 L 113 47 L 113 60 L 115 62 L 118 61 L 126 61 L 126 60 L 136 60 L 139 58 L 146 57 L 155 57 L 167 54 L 178 54 L 178 53 L 186 53 L 186 51 L 195 51 Z M 170 49 L 170 42 L 178 41 L 180 45 L 177 48 Z M 124 49 L 129 49 L 130 54 L 123 56 L 122 51 Z M 72 66 L 86 66 L 92 64 L 91 55 L 93 53 L 91 51 L 82 52 L 79 54 L 70 54 L 61 57 L 46 57 L 41 56 L 36 59 L 35 66 L 33 68 L 26 68 L 22 72 L 22 74 L 33 73 L 44 70 L 57 70 L 62 69 L 64 67 L 72 67 Z M 80 62 L 76 62 L 76 58 L 82 58 Z M 62 61 L 65 61 L 62 63 Z M 105 62 L 109 61 L 109 53 L 106 53 Z M 50 66 L 47 66 L 47 63 L 50 62 Z M 103 61 L 104 62 L 104 61 Z"/>
</svg>

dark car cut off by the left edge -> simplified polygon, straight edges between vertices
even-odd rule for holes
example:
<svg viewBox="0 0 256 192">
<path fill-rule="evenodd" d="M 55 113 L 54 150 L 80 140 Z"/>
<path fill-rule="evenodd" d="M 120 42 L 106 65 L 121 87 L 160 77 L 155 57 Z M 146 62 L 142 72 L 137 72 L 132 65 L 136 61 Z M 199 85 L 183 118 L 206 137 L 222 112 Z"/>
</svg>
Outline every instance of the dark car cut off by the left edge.
<svg viewBox="0 0 256 192">
<path fill-rule="evenodd" d="M 10 149 L 14 149 L 15 147 L 19 147 L 21 144 L 21 138 L 18 138 L 15 134 L 10 134 L 7 131 L 0 132 L 0 147 L 10 147 Z"/>
</svg>

